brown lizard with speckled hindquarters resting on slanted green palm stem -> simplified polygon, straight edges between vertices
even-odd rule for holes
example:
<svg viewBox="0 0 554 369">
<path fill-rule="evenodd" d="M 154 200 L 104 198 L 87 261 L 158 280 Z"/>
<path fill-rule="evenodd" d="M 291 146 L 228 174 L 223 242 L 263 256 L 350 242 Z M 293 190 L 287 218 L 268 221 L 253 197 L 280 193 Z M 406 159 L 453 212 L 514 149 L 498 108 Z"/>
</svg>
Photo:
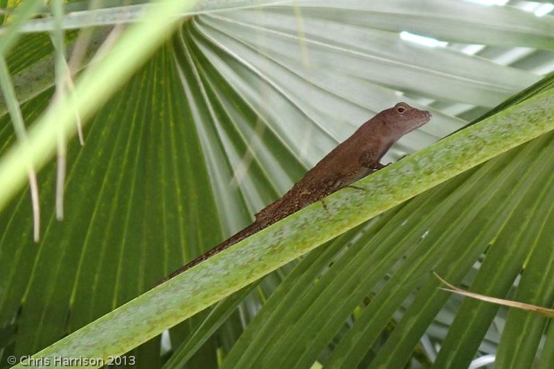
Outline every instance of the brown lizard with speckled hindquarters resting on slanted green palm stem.
<svg viewBox="0 0 554 369">
<path fill-rule="evenodd" d="M 392 108 L 378 113 L 362 124 L 346 141 L 325 155 L 282 198 L 258 212 L 254 223 L 190 261 L 184 267 L 175 270 L 158 284 L 168 281 L 177 274 L 181 274 L 303 207 L 316 201 L 323 201 L 325 196 L 334 191 L 343 187 L 363 190 L 361 187 L 352 186 L 352 182 L 386 167 L 379 162 L 386 151 L 403 135 L 418 129 L 430 119 L 429 111 L 412 108 L 404 102 L 399 102 Z M 323 207 L 325 210 L 327 209 L 325 202 L 323 202 Z"/>
</svg>

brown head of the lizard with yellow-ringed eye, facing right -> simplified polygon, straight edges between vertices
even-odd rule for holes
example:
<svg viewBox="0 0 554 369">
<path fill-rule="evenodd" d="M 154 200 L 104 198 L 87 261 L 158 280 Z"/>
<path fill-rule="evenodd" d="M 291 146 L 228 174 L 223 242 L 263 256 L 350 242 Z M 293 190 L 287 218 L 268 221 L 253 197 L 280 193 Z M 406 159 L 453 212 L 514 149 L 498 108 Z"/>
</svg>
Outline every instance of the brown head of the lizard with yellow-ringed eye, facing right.
<svg viewBox="0 0 554 369">
<path fill-rule="evenodd" d="M 405 102 L 399 102 L 392 108 L 382 111 L 379 115 L 382 115 L 381 122 L 386 130 L 393 133 L 393 135 L 399 135 L 399 137 L 418 129 L 429 122 L 433 116 L 429 111 L 413 108 Z"/>
</svg>

